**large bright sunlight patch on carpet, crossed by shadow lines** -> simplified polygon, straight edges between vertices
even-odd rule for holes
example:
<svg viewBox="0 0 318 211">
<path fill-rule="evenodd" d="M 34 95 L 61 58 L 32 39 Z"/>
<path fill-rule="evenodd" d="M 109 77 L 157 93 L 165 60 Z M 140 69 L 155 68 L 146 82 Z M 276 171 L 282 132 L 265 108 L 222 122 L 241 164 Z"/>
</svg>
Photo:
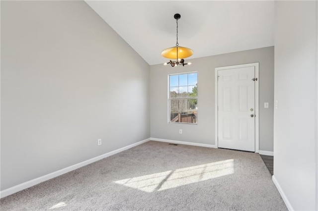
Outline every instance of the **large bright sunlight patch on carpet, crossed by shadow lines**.
<svg viewBox="0 0 318 211">
<path fill-rule="evenodd" d="M 115 183 L 151 193 L 233 173 L 234 159 L 227 159 L 218 162 L 118 180 L 115 181 Z"/>
</svg>

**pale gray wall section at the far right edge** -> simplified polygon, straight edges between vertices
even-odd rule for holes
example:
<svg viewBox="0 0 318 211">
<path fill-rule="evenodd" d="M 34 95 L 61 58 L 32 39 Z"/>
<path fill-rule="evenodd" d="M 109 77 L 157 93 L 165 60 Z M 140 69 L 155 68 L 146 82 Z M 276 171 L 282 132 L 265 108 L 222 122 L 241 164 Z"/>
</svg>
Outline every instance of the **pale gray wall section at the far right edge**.
<svg viewBox="0 0 318 211">
<path fill-rule="evenodd" d="M 317 4 L 275 1 L 274 178 L 292 210 L 318 210 Z"/>
</svg>

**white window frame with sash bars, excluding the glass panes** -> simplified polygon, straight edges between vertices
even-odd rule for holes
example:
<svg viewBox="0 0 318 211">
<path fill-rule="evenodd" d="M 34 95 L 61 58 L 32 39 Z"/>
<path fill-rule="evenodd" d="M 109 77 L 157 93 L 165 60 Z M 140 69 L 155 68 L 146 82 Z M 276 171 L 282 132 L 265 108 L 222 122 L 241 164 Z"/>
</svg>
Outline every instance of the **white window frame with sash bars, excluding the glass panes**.
<svg viewBox="0 0 318 211">
<path fill-rule="evenodd" d="M 189 124 L 189 125 L 198 125 L 198 122 L 195 122 L 195 123 L 189 123 L 189 122 L 171 122 L 171 120 L 170 120 L 170 117 L 171 117 L 171 110 L 170 110 L 170 108 L 171 108 L 171 106 L 170 106 L 170 102 L 171 102 L 171 100 L 198 100 L 198 96 L 197 97 L 178 97 L 178 98 L 170 98 L 170 76 L 173 76 L 173 75 L 183 75 L 183 74 L 191 74 L 191 73 L 196 73 L 197 74 L 197 84 L 199 84 L 198 83 L 198 71 L 191 71 L 191 72 L 181 72 L 181 73 L 172 73 L 172 74 L 168 74 L 168 94 L 167 94 L 167 101 L 168 101 L 168 112 L 167 112 L 167 117 L 168 117 L 168 124 Z M 187 84 L 187 87 L 188 87 L 189 85 Z M 192 85 L 190 85 L 190 86 L 192 86 Z M 179 84 L 178 84 L 178 87 L 180 87 L 179 86 Z M 197 88 L 198 88 L 199 86 L 197 85 Z M 199 94 L 198 94 L 199 95 Z M 197 117 L 198 117 L 198 109 L 196 110 L 197 111 Z"/>
</svg>

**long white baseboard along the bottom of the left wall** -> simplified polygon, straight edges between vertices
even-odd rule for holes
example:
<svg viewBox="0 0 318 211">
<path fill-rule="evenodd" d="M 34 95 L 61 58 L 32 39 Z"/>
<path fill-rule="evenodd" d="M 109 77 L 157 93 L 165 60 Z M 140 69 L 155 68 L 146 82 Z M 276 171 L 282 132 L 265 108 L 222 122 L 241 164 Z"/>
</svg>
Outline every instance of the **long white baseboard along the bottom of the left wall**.
<svg viewBox="0 0 318 211">
<path fill-rule="evenodd" d="M 37 184 L 39 184 L 41 182 L 44 182 L 44 181 L 47 181 L 47 180 L 52 179 L 54 177 L 60 176 L 60 175 L 65 174 L 65 173 L 68 173 L 70 171 L 73 171 L 75 169 L 78 169 L 80 167 L 88 165 L 90 163 L 96 162 L 96 161 L 98 161 L 100 159 L 107 158 L 109 156 L 115 155 L 115 154 L 120 153 L 122 151 L 125 151 L 125 150 L 128 150 L 130 148 L 136 147 L 136 146 L 138 146 L 140 144 L 143 144 L 143 143 L 146 143 L 148 141 L 150 141 L 150 138 L 145 139 L 145 140 L 140 141 L 140 142 L 137 142 L 137 143 L 134 143 L 134 144 L 131 144 L 131 145 L 128 145 L 126 147 L 120 148 L 118 150 L 111 151 L 111 152 L 103 154 L 101 156 L 97 156 L 95 158 L 91 158 L 91 159 L 79 162 L 77 164 L 74 164 L 74 165 L 71 165 L 69 167 L 63 168 L 61 170 L 58 170 L 58 171 L 46 174 L 44 176 L 32 179 L 30 181 L 21 183 L 19 185 L 13 186 L 11 188 L 5 189 L 3 191 L 0 191 L 0 198 L 3 198 L 3 197 L 6 197 L 6 196 L 9 196 L 11 194 L 14 194 L 16 192 L 22 191 L 22 190 L 24 190 L 26 188 L 32 187 L 32 186 L 37 185 Z"/>
</svg>

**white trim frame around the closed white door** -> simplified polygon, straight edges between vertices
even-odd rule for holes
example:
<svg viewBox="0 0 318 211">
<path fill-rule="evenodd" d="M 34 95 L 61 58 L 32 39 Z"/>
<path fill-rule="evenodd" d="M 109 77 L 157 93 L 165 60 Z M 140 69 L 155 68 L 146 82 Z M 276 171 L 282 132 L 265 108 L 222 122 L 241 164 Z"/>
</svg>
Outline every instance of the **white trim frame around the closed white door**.
<svg viewBox="0 0 318 211">
<path fill-rule="evenodd" d="M 259 90 L 259 62 L 249 63 L 249 64 L 239 64 L 225 67 L 215 68 L 215 146 L 217 148 L 219 145 L 218 141 L 218 71 L 225 69 L 237 69 L 241 67 L 255 67 L 255 78 L 257 82 L 255 83 L 255 153 L 259 153 L 259 102 L 258 102 L 258 90 Z"/>
</svg>

